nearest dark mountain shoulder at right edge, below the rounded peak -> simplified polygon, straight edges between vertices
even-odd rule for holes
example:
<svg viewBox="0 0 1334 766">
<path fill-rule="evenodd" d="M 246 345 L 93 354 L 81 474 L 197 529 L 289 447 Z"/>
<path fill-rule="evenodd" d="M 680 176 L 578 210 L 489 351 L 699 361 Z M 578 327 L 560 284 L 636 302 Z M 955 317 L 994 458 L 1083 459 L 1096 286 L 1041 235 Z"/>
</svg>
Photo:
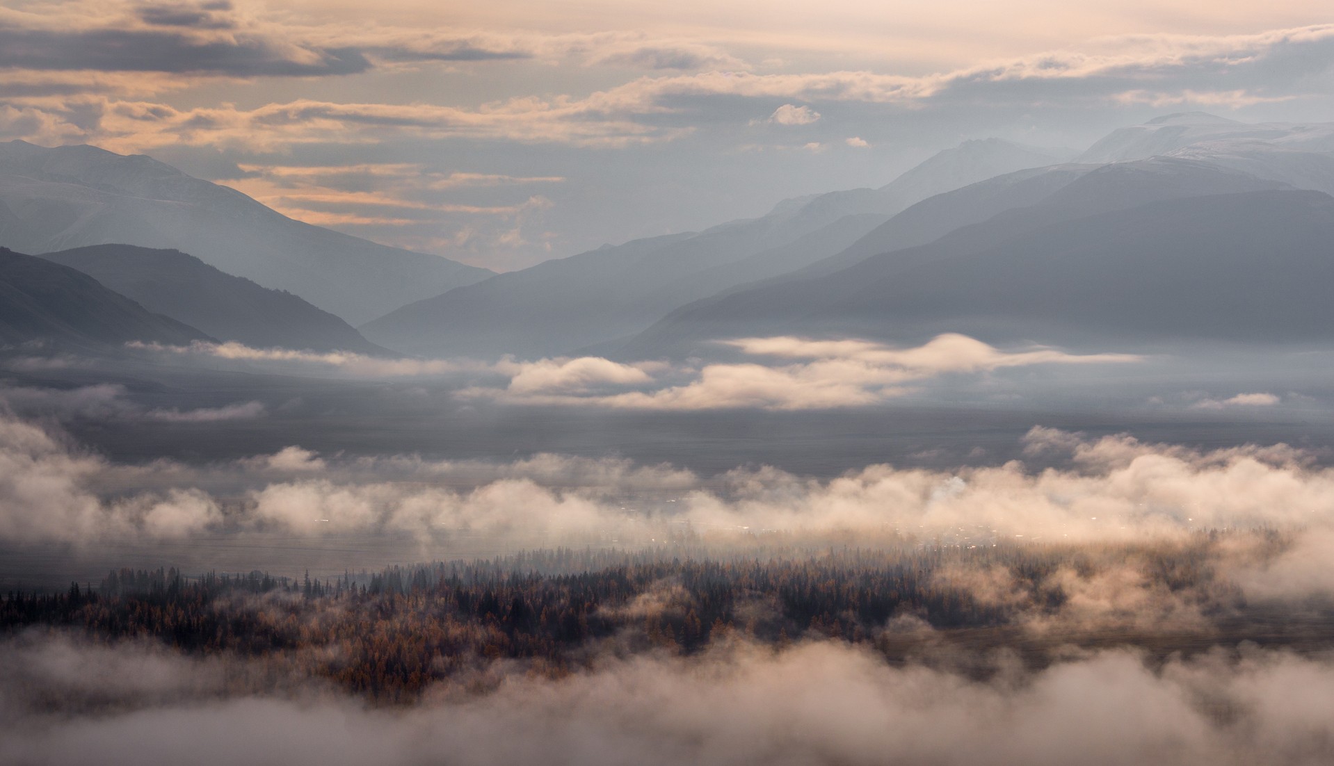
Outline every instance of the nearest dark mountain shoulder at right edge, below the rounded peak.
<svg viewBox="0 0 1334 766">
<path fill-rule="evenodd" d="M 907 269 L 839 274 L 823 318 L 990 341 L 1299 342 L 1334 336 L 1334 198 L 1275 191 L 1158 201 Z M 814 320 L 814 324 L 812 324 Z"/>
</svg>

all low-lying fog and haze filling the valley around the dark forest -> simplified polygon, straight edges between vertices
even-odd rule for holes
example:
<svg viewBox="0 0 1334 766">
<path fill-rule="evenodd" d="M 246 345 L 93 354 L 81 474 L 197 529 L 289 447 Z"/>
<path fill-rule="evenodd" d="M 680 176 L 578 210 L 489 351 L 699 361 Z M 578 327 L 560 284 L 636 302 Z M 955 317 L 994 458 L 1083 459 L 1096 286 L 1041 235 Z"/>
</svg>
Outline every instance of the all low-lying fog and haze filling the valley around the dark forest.
<svg viewBox="0 0 1334 766">
<path fill-rule="evenodd" d="M 1310 609 L 1334 591 L 1327 352 L 778 341 L 679 365 L 11 352 L 0 586 L 683 537 L 966 549 L 1273 529 L 1282 549 L 1214 565 L 1250 599 Z M 1014 593 L 1003 573 L 955 577 Z M 1082 609 L 1167 614 L 1133 575 L 1082 587 Z M 907 622 L 883 630 L 930 630 Z M 0 761 L 1315 765 L 1334 747 L 1325 654 L 894 665 L 802 635 L 590 651 L 560 679 L 492 663 L 484 683 L 384 710 L 303 678 L 256 693 L 260 659 L 24 633 L 0 651 Z"/>
</svg>

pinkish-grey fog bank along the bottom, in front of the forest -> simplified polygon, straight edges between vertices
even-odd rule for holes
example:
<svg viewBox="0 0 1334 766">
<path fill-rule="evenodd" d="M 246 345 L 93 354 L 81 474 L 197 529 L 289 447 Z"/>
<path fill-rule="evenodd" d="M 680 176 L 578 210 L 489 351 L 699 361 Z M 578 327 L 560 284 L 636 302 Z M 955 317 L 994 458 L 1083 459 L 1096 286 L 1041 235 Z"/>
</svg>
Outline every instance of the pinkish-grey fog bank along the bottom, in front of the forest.
<svg viewBox="0 0 1334 766">
<path fill-rule="evenodd" d="M 317 687 L 228 693 L 228 674 L 263 675 L 244 659 L 63 637 L 4 649 L 9 762 L 1301 766 L 1334 737 L 1334 667 L 1274 650 L 1157 666 L 1110 650 L 1033 670 L 994 662 L 978 679 L 834 641 L 778 653 L 734 642 L 598 657 L 558 681 L 508 673 L 491 693 L 384 710 Z M 75 713 L 43 715 L 40 690 Z M 111 703 L 93 713 L 99 699 Z"/>
</svg>

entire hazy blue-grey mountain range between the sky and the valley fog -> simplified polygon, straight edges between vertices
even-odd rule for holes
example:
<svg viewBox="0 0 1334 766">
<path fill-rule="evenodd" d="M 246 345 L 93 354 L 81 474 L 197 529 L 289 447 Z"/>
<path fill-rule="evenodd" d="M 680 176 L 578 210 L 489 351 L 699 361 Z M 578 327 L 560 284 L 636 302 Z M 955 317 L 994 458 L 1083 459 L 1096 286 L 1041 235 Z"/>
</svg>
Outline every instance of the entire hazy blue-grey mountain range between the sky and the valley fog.
<svg viewBox="0 0 1334 766">
<path fill-rule="evenodd" d="M 1169 115 L 1079 155 L 966 141 L 878 189 L 490 276 L 299 224 L 148 157 L 11 143 L 0 241 L 107 241 L 37 249 L 87 281 L 8 253 L 4 342 L 208 337 L 627 360 L 707 357 L 727 353 L 718 340 L 775 334 L 1309 342 L 1334 318 L 1319 294 L 1334 276 L 1331 193 L 1334 125 Z M 153 246 L 164 232 L 193 244 Z M 61 297 L 76 292 L 92 314 Z M 91 316 L 115 332 L 99 336 Z"/>
</svg>

